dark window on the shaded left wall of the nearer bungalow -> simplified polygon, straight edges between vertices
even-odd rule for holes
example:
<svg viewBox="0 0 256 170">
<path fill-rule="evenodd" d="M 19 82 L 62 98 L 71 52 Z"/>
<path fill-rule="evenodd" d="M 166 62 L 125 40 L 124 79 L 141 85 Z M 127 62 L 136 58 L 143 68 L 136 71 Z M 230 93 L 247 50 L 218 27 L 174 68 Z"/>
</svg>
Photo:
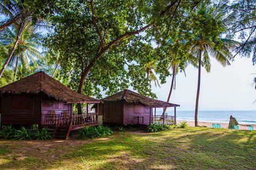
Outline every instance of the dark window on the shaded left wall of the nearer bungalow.
<svg viewBox="0 0 256 170">
<path fill-rule="evenodd" d="M 30 109 L 32 107 L 32 98 L 29 95 L 13 95 L 12 97 L 13 109 Z"/>
</svg>

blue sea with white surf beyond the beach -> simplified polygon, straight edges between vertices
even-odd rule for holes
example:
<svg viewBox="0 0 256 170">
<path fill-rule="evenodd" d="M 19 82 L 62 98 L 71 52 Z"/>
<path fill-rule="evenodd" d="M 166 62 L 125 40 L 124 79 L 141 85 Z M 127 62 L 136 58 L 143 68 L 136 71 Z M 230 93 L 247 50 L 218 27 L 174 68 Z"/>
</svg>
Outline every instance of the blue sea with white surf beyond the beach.
<svg viewBox="0 0 256 170">
<path fill-rule="evenodd" d="M 157 110 L 156 114 L 161 115 L 162 112 L 162 110 Z M 174 115 L 174 111 L 167 110 L 166 113 L 168 115 Z M 213 123 L 229 123 L 230 115 L 235 117 L 238 123 L 240 124 L 256 124 L 256 110 L 204 110 L 198 112 L 198 121 Z M 194 121 L 194 110 L 177 110 L 176 117 L 177 120 Z"/>
</svg>

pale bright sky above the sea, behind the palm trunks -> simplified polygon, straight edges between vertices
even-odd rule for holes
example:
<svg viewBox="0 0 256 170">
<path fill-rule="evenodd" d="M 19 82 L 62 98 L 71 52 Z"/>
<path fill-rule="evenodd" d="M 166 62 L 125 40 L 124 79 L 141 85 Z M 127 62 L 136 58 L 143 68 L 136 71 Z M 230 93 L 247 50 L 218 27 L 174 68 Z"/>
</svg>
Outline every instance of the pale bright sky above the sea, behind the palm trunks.
<svg viewBox="0 0 256 170">
<path fill-rule="evenodd" d="M 212 58 L 210 73 L 202 69 L 199 110 L 255 110 L 256 90 L 252 85 L 256 66 L 251 58 L 236 56 L 230 66 L 222 67 Z M 177 110 L 194 110 L 197 90 L 197 69 L 188 66 L 184 73 L 176 76 L 176 89 L 172 90 L 171 103 L 180 104 Z M 152 92 L 159 100 L 166 101 L 171 77 L 166 84 L 155 87 Z"/>
</svg>

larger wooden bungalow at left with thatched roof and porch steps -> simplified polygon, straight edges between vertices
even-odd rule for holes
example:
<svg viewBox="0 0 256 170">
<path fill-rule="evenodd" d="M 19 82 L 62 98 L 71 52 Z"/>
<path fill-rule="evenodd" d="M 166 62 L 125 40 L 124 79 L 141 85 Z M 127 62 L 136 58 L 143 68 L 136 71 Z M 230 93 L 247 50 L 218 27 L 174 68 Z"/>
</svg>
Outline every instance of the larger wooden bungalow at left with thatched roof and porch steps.
<svg viewBox="0 0 256 170">
<path fill-rule="evenodd" d="M 0 88 L 1 125 L 38 124 L 54 129 L 54 137 L 68 138 L 71 131 L 98 125 L 98 113 L 88 113 L 88 103 L 99 100 L 78 94 L 44 72 Z M 87 112 L 74 114 L 74 103 L 87 103 Z"/>
</svg>

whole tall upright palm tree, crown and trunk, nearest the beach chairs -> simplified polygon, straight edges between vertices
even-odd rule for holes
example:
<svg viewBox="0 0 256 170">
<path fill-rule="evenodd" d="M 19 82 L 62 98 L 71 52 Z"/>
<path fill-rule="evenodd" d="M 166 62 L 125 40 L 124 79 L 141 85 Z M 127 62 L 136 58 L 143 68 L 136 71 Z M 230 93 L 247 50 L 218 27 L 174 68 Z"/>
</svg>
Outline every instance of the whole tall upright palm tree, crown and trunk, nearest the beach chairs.
<svg viewBox="0 0 256 170">
<path fill-rule="evenodd" d="M 224 18 L 222 13 L 215 12 L 205 3 L 201 3 L 199 9 L 196 10 L 192 17 L 190 29 L 194 33 L 194 38 L 190 41 L 190 56 L 197 58 L 198 78 L 197 78 L 197 94 L 196 107 L 194 115 L 195 126 L 198 126 L 198 105 L 201 86 L 201 67 L 205 67 L 210 72 L 210 56 L 215 58 L 222 66 L 230 65 L 233 56 L 230 50 L 237 44 L 236 41 L 221 38 L 226 30 L 225 22 L 228 18 Z"/>
</svg>

